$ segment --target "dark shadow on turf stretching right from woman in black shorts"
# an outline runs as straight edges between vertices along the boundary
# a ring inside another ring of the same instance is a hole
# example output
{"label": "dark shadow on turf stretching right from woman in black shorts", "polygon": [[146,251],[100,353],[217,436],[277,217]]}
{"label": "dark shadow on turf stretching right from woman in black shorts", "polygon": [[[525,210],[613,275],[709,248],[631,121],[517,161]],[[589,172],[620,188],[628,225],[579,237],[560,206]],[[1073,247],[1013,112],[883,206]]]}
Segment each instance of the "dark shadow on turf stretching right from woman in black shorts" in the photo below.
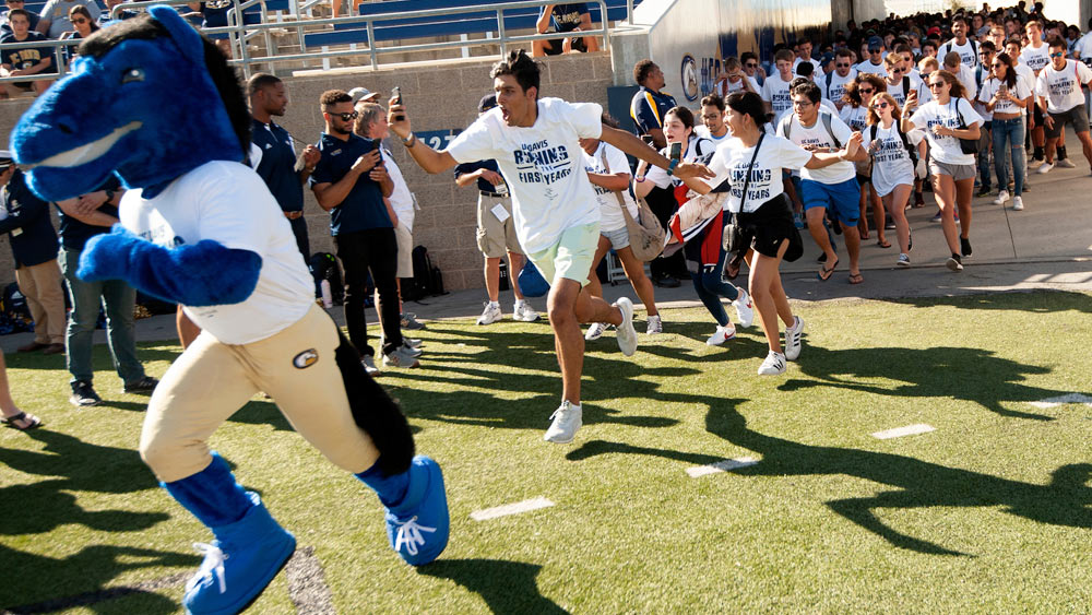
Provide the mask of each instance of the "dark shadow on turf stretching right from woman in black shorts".
{"label": "dark shadow on turf stretching right from woman in black shorts", "polygon": [[[829,351],[805,343],[797,362],[809,379],[790,379],[779,388],[796,391],[833,387],[905,398],[951,398],[971,401],[1000,416],[1054,421],[1053,416],[1005,407],[1005,403],[1035,402],[1069,391],[1054,391],[1024,382],[1049,369],[996,356],[990,351],[938,346],[933,348],[847,348]],[[862,380],[903,382],[892,387]]]}

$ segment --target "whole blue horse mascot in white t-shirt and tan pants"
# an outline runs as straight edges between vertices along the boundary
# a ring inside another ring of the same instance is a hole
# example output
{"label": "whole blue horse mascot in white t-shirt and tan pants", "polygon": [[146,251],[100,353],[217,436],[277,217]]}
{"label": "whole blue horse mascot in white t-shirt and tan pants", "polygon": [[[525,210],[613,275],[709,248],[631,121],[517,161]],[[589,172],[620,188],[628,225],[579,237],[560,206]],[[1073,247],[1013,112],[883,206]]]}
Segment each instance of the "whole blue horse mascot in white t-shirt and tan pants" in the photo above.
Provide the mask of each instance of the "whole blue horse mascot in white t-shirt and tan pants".
{"label": "whole blue horse mascot in white t-shirt and tan pants", "polygon": [[123,280],[183,306],[202,328],[152,394],[140,440],[167,493],[215,536],[197,545],[205,557],[186,587],[187,611],[241,611],[296,548],[207,446],[260,391],[375,489],[406,563],[436,559],[450,523],[440,468],[414,456],[405,417],[314,304],[288,222],[241,164],[250,116],[235,71],[168,7],[96,33],[79,52],[11,145],[49,201],[117,175],[128,190],[121,224],[87,243],[78,275]]}

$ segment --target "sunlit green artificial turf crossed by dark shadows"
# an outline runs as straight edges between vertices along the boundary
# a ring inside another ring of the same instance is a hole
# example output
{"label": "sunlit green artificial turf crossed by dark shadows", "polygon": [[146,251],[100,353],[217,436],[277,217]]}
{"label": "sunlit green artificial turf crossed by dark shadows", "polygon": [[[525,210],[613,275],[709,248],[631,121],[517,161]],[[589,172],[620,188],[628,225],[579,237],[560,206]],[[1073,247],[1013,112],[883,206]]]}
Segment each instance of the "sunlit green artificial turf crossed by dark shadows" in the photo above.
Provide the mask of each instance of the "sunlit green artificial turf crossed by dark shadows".
{"label": "sunlit green artificial turf crossed by dark shadows", "polygon": [[[542,440],[560,395],[548,324],[430,322],[423,367],[380,379],[447,478],[451,542],[420,569],[387,545],[376,497],[271,402],[212,443],[313,547],[341,613],[1081,612],[1092,407],[1031,402],[1092,394],[1090,307],[1077,293],[802,304],[804,352],[782,377],[756,375],[757,326],[709,347],[703,309],[664,310],[665,334],[631,358],[613,332],[587,344],[567,446]],[[120,394],[95,352],[108,405],[79,411],[61,358],[8,356],[16,401],[48,425],[0,431],[0,608],[175,612],[180,584],[138,583],[192,570],[190,543],[211,537],[140,461],[145,398]],[[141,357],[159,376],[178,352]],[[870,436],[919,423],[936,430]],[[686,472],[745,457],[759,462]],[[555,506],[470,518],[535,497]],[[252,611],[294,608],[282,573]]]}

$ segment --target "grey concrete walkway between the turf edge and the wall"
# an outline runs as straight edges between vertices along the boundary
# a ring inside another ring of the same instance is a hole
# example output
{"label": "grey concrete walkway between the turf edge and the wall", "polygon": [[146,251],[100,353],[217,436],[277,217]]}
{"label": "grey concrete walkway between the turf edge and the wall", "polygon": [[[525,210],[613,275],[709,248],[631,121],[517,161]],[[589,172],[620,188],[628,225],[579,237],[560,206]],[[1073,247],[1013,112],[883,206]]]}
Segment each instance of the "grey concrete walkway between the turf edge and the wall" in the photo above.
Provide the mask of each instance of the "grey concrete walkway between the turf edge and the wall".
{"label": "grey concrete walkway between the turf edge and the wall", "polygon": [[[1076,135],[1070,142],[1078,144]],[[948,249],[939,223],[929,218],[936,213],[933,193],[926,192],[926,206],[906,212],[914,237],[911,252],[913,267],[897,268],[899,257],[894,230],[887,232],[891,248],[876,245],[876,230],[871,239],[862,243],[860,270],[863,284],[851,285],[848,258],[844,241],[840,244],[841,261],[828,282],[819,282],[816,272],[819,251],[806,230],[803,232],[805,252],[794,263],[782,265],[782,277],[788,296],[796,300],[827,299],[886,299],[994,293],[1005,291],[1065,289],[1092,291],[1092,175],[1079,146],[1070,146],[1075,169],[1055,168],[1049,174],[1030,172],[1031,191],[1024,193],[1024,211],[1014,212],[1011,201],[1004,206],[990,204],[994,197],[974,200],[971,244],[974,257],[964,261],[961,273],[949,272],[943,267]],[[746,287],[746,268],[736,284]],[[626,295],[637,301],[628,283],[605,285],[608,300]],[[420,303],[411,301],[406,311],[416,312],[425,321],[444,318],[475,318],[482,312],[485,291],[459,291],[431,297]],[[656,303],[661,307],[700,306],[689,283],[679,288],[656,288]],[[511,315],[512,295],[501,294],[501,306]],[[545,299],[532,304],[545,312]],[[341,308],[330,310],[344,324]],[[375,311],[368,310],[369,322]],[[665,323],[669,329],[669,324]],[[373,329],[378,334],[378,329]],[[15,348],[31,341],[31,333],[0,338],[0,348],[14,353]],[[136,322],[139,341],[176,340],[174,316],[158,316]],[[96,332],[96,342],[104,343],[103,331]],[[62,364],[58,357],[59,365]]]}

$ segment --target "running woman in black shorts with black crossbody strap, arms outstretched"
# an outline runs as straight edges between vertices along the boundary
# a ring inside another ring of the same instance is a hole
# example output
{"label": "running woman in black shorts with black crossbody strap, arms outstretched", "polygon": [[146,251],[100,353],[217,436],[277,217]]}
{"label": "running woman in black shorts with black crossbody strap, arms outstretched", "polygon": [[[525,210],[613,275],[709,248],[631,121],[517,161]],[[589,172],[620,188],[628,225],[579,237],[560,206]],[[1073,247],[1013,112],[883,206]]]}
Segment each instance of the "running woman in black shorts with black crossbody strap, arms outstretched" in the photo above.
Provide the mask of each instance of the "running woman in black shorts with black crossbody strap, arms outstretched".
{"label": "running woman in black shorts with black crossbody strap, arms outstretched", "polygon": [[[799,258],[804,246],[784,198],[782,170],[817,169],[856,157],[860,152],[860,134],[853,134],[838,152],[811,153],[787,139],[763,131],[765,109],[755,94],[736,92],[725,104],[733,138],[716,147],[709,163],[715,177],[684,179],[702,197],[691,199],[679,210],[679,222],[673,227],[670,239],[681,240],[686,229],[707,224],[722,208],[732,214],[732,222],[740,228],[740,251],[747,252],[750,267],[750,295],[770,346],[758,372],[784,374],[785,362],[800,355],[804,321],[793,315],[781,285],[779,267],[783,258],[790,261]],[[713,192],[710,198],[714,188],[723,182],[727,182],[727,191]],[[676,228],[684,230],[677,233]],[[784,352],[779,318],[786,326]]]}

